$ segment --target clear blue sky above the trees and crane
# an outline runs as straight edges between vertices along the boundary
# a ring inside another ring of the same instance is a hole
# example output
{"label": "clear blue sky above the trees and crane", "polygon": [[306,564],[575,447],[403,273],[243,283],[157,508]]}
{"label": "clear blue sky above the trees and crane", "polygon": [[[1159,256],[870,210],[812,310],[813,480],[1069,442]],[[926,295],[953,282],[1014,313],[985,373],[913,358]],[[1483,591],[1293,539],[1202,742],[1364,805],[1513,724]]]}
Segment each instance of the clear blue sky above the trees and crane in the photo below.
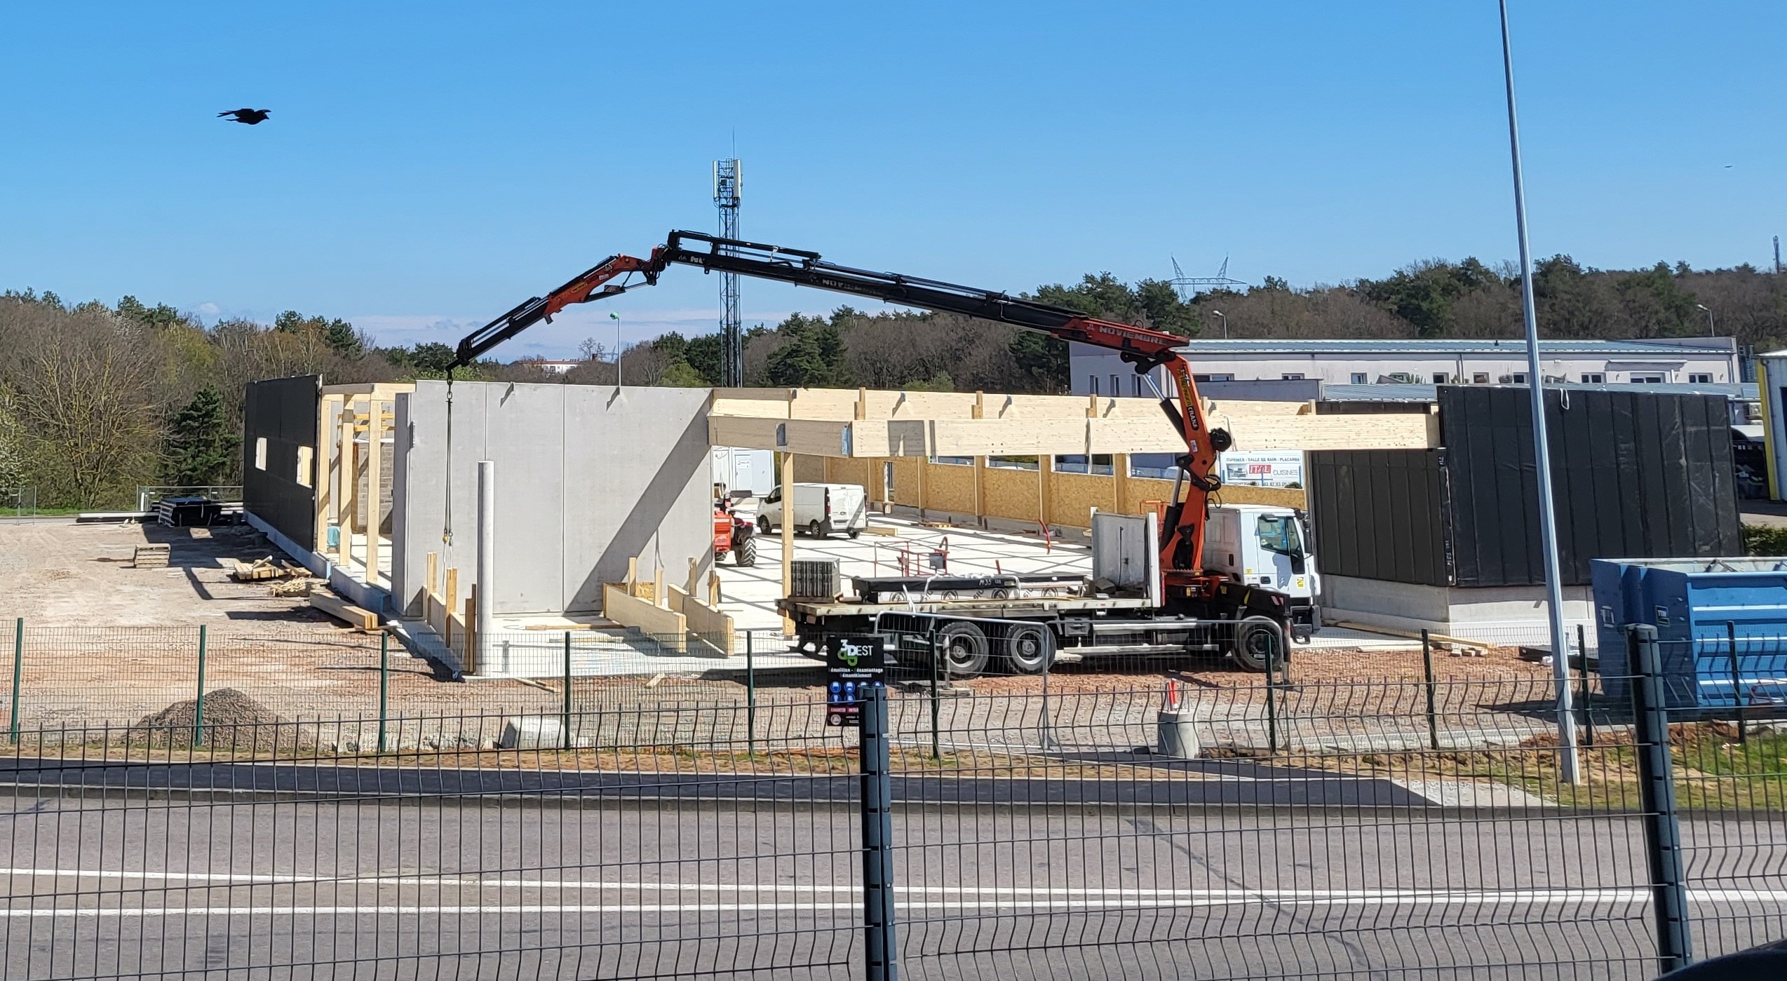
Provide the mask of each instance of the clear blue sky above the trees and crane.
{"label": "clear blue sky above the trees and crane", "polygon": [[[1769,261],[1787,5],[1515,0],[1514,29],[1537,254]],[[239,105],[273,118],[214,118]],[[14,4],[0,288],[452,343],[711,231],[734,139],[747,238],[976,286],[1515,254],[1492,0]],[[717,288],[613,309],[629,341],[704,332]],[[838,302],[743,288],[747,323]]]}

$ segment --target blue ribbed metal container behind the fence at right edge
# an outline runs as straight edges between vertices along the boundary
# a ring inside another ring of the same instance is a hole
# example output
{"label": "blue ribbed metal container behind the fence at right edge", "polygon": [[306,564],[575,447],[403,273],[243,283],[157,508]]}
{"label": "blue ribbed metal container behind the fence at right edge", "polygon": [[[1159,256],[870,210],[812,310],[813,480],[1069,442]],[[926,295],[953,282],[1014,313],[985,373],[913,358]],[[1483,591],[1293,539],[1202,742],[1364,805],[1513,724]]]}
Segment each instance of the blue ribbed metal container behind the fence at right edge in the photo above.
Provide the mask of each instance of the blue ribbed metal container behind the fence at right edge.
{"label": "blue ribbed metal container behind the fence at right edge", "polygon": [[1626,625],[1649,624],[1669,708],[1787,706],[1787,558],[1594,559],[1590,574],[1601,686],[1617,704],[1632,697]]}

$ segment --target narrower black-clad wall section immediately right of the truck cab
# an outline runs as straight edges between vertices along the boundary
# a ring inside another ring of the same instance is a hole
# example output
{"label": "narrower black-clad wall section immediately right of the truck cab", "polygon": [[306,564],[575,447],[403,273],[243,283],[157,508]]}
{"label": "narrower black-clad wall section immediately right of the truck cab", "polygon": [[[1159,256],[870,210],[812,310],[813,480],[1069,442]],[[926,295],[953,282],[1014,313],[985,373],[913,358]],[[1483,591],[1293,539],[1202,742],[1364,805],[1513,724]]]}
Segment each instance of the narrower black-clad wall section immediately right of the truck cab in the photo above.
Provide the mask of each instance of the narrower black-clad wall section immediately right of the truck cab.
{"label": "narrower black-clad wall section immediately right of the truck cab", "polygon": [[1446,586],[1444,450],[1310,454],[1315,563],[1333,575]]}

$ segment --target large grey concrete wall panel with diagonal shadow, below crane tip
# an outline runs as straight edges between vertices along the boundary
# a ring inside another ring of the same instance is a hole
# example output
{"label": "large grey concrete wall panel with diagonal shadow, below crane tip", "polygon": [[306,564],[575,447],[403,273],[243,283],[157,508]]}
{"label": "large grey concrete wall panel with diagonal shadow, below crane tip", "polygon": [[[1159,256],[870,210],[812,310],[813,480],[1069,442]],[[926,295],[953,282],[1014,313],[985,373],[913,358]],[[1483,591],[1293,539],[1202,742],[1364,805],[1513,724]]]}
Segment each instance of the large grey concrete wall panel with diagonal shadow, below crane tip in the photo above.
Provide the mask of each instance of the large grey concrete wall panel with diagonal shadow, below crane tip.
{"label": "large grey concrete wall panel with diagonal shadow, below crane tip", "polygon": [[[427,554],[477,581],[477,461],[497,465],[495,613],[590,613],[602,583],[713,565],[708,390],[447,382],[397,397],[393,606],[422,613]],[[452,541],[443,541],[449,500]]]}

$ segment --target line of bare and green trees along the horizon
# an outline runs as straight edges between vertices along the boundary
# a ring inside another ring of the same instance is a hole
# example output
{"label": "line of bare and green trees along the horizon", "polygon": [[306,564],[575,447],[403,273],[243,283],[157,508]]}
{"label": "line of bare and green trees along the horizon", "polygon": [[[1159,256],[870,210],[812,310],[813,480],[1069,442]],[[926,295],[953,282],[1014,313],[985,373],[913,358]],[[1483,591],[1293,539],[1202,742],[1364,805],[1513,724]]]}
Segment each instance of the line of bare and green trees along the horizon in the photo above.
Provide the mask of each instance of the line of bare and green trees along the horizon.
{"label": "line of bare and green trees along the horizon", "polygon": [[[1517,338],[1519,275],[1478,259],[1414,263],[1383,279],[1294,289],[1260,286],[1181,297],[1170,282],[1088,273],[1026,297],[1187,338]],[[1548,338],[1730,334],[1758,350],[1787,341],[1787,277],[1753,266],[1658,263],[1596,270],[1553,256],[1533,270]],[[1712,322],[1708,323],[1708,314]],[[713,386],[720,338],[663,334],[624,352],[595,340],[570,372],[481,361],[456,377],[566,384]],[[66,304],[0,295],[0,495],[34,486],[43,506],[100,507],[138,484],[234,484],[248,381],[322,373],[331,384],[445,377],[438,341],[377,347],[340,318],[281,313],[273,323],[204,325],[136,297]],[[1035,391],[1069,388],[1067,345],[942,313],[868,314],[840,306],[745,332],[751,386]],[[4,500],[4,497],[0,497]]]}

